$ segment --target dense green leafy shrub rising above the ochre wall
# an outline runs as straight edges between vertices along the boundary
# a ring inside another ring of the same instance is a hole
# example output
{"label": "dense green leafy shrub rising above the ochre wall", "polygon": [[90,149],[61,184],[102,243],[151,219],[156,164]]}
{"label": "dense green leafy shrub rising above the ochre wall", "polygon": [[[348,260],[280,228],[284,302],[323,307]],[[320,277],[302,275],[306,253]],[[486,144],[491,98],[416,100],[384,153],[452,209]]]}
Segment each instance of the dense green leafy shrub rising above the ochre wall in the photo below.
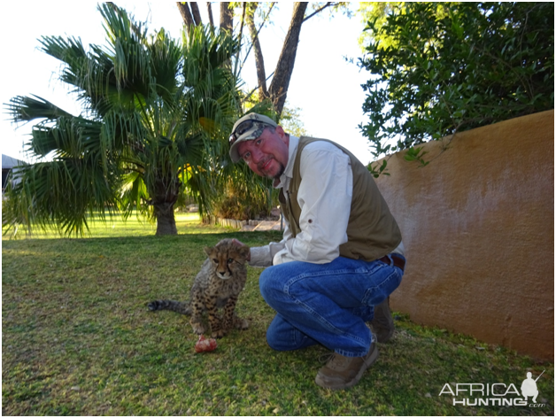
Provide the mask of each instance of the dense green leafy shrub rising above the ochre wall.
{"label": "dense green leafy shrub rising above the ochre wall", "polygon": [[554,107],[553,3],[395,4],[366,30],[377,157]]}

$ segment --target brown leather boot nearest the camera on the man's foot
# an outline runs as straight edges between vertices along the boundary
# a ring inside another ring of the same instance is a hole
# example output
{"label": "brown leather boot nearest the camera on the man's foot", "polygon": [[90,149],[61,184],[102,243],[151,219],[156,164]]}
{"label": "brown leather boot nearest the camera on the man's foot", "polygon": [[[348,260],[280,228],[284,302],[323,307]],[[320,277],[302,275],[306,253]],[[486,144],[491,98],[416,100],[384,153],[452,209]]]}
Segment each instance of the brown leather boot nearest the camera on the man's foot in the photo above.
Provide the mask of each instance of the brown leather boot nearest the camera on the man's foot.
{"label": "brown leather boot nearest the camera on the man's foot", "polygon": [[327,389],[347,389],[359,382],[365,370],[378,359],[378,348],[372,343],[363,357],[344,357],[332,353],[324,368],[320,368],[314,382]]}

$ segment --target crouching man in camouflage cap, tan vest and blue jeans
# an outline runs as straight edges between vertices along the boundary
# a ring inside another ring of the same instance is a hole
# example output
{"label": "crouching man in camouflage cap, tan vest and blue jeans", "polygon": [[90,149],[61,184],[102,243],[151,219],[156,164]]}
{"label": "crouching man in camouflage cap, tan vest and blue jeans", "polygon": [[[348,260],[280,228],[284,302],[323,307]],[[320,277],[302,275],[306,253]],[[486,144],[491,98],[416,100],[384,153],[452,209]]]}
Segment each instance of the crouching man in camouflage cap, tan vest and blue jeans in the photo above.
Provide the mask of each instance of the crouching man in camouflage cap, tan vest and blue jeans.
{"label": "crouching man in camouflage cap, tan vest and blue jeans", "polygon": [[394,331],[388,298],[405,268],[398,224],[367,167],[336,143],[286,134],[256,113],[237,120],[229,143],[234,162],[280,189],[283,239],[248,258],[268,267],[259,286],[276,316],[266,340],[281,351],[328,347],[315,382],[351,387]]}

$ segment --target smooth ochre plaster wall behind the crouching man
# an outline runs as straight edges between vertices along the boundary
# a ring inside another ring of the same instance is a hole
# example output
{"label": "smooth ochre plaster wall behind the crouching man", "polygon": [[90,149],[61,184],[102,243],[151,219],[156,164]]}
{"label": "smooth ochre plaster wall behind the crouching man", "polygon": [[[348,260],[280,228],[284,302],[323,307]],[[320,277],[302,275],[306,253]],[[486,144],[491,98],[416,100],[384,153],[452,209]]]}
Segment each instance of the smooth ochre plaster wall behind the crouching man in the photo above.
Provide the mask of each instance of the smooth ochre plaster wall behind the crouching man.
{"label": "smooth ochre plaster wall behind the crouching man", "polygon": [[423,146],[428,166],[398,152],[377,179],[407,257],[392,309],[552,360],[554,112]]}

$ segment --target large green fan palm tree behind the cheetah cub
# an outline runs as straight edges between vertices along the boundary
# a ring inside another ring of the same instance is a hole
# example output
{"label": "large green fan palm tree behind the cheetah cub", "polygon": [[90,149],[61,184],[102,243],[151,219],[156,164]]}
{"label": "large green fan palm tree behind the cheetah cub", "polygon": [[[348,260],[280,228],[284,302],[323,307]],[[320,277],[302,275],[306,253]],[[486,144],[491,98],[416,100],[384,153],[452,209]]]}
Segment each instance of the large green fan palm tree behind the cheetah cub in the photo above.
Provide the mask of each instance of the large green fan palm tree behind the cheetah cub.
{"label": "large green fan palm tree behind the cheetah cub", "polygon": [[4,225],[88,229],[88,214],[151,213],[157,235],[176,234],[174,204],[185,189],[201,210],[221,173],[240,106],[229,57],[236,42],[195,27],[183,44],[146,28],[113,4],[98,7],[107,46],[43,36],[84,112],[41,97],[14,97],[13,120],[35,121],[29,151],[50,161],[20,167],[6,193]]}

